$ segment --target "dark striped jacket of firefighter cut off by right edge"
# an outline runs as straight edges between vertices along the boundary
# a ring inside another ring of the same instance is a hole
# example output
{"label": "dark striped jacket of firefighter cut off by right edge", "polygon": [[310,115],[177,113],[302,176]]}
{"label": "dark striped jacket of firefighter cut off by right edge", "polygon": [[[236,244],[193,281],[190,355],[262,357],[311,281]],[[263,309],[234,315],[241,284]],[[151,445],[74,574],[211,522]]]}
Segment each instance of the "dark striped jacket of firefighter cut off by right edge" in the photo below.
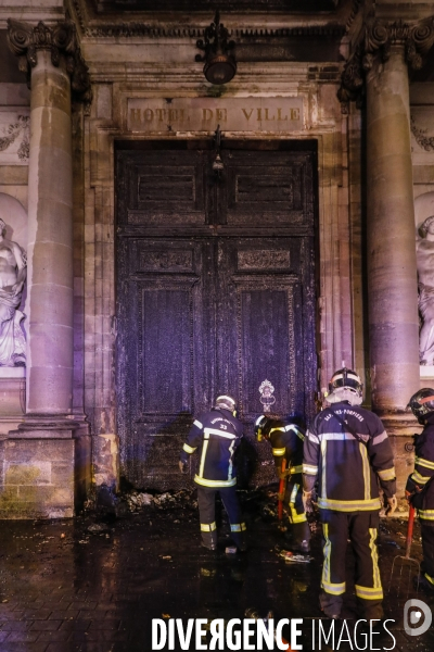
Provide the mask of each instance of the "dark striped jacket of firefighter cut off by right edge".
{"label": "dark striped jacket of firefighter cut off by right edge", "polygon": [[426,421],[416,437],[414,471],[408,476],[406,491],[413,493],[411,503],[418,509],[421,524],[434,526],[434,414]]}

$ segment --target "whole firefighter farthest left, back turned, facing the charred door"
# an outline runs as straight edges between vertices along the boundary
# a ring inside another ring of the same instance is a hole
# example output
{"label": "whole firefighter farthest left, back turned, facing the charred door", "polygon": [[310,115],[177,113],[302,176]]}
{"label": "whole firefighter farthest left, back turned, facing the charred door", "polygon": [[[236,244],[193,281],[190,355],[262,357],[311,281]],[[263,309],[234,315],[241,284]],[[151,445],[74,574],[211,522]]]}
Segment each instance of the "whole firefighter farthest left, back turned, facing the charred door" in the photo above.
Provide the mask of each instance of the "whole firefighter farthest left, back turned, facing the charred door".
{"label": "whole firefighter farthest left, back turned, facing the charred door", "polygon": [[237,497],[234,464],[234,454],[243,436],[243,424],[235,415],[234,399],[228,396],[217,397],[213,410],[194,421],[179,460],[180,471],[188,473],[188,460],[199,450],[199,468],[194,481],[197,485],[202,546],[208,550],[217,550],[217,492],[228,513],[232,541],[238,550],[246,550],[245,523],[242,521]]}

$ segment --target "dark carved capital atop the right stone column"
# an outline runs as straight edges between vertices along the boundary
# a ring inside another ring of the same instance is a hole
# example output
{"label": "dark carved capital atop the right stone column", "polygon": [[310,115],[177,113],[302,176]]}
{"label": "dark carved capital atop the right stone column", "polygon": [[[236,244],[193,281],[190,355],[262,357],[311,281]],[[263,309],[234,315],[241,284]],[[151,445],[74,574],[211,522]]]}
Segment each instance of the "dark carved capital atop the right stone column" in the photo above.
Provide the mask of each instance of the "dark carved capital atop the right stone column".
{"label": "dark carved capital atop the right stone column", "polygon": [[341,88],[337,91],[342,112],[347,113],[348,103],[353,100],[358,105],[361,104],[365,75],[372,68],[376,58],[386,62],[392,48],[401,47],[407,64],[413,70],[419,70],[433,45],[434,16],[417,23],[388,23],[374,17],[369,18],[342,73]]}

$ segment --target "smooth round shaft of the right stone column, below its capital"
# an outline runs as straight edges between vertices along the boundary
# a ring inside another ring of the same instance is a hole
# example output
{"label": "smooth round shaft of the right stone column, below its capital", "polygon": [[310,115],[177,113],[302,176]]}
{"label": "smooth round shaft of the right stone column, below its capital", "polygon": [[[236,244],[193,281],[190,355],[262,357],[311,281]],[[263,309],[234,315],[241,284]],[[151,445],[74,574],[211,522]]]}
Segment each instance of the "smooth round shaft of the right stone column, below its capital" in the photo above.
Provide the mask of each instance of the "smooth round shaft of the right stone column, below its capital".
{"label": "smooth round shaft of the right stone column, below its capital", "polygon": [[410,104],[403,45],[367,74],[367,243],[372,404],[404,411],[419,388]]}

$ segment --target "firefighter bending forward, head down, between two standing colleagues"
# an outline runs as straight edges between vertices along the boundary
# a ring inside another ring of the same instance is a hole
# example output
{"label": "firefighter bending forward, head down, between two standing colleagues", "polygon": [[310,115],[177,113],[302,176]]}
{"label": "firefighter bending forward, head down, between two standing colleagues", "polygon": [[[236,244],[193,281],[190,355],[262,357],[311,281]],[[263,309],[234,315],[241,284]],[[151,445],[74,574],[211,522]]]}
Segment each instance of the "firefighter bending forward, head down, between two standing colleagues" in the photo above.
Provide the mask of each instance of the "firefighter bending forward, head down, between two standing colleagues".
{"label": "firefighter bending forward, head down, between two standing colleagues", "polygon": [[264,437],[270,442],[278,476],[286,480],[284,496],[279,498],[284,500],[289,507],[290,548],[293,552],[306,554],[310,552],[310,529],[303,505],[302,463],[305,429],[277,415],[263,414],[255,422],[255,436],[258,441]]}

